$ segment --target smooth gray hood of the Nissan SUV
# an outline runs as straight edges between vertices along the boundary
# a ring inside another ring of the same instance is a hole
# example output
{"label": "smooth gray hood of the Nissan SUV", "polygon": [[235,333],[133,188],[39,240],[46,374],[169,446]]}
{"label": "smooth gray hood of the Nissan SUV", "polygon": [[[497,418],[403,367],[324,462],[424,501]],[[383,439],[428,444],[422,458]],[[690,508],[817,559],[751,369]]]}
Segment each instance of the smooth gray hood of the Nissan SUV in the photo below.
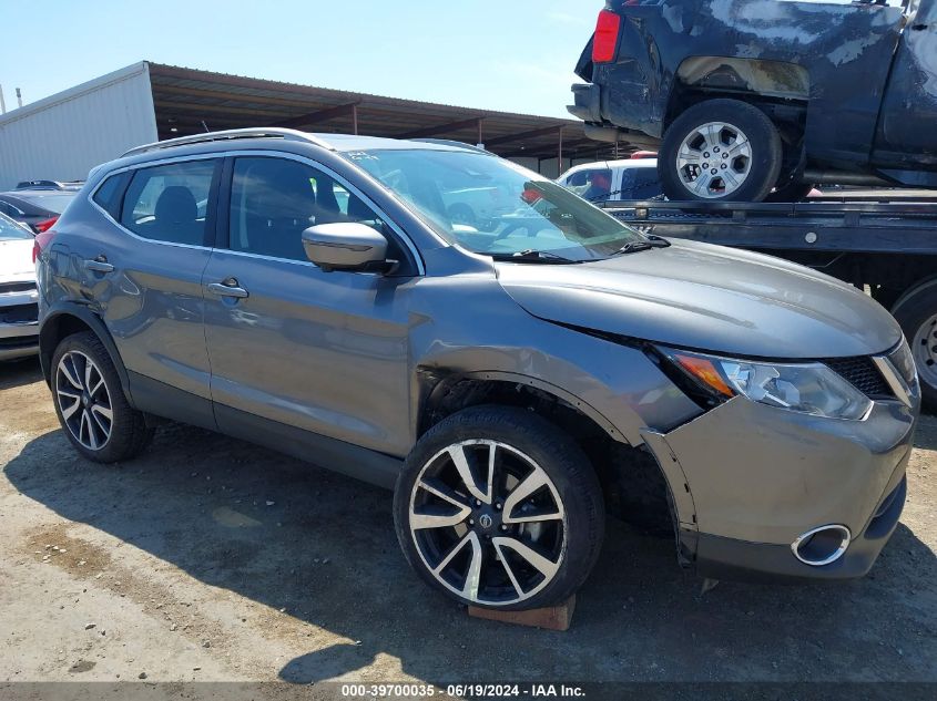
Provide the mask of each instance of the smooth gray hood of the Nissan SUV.
{"label": "smooth gray hood of the Nissan SUV", "polygon": [[674,240],[669,248],[551,266],[498,262],[505,290],[549,321],[750,358],[892,349],[902,331],[854,287],[778,258]]}

